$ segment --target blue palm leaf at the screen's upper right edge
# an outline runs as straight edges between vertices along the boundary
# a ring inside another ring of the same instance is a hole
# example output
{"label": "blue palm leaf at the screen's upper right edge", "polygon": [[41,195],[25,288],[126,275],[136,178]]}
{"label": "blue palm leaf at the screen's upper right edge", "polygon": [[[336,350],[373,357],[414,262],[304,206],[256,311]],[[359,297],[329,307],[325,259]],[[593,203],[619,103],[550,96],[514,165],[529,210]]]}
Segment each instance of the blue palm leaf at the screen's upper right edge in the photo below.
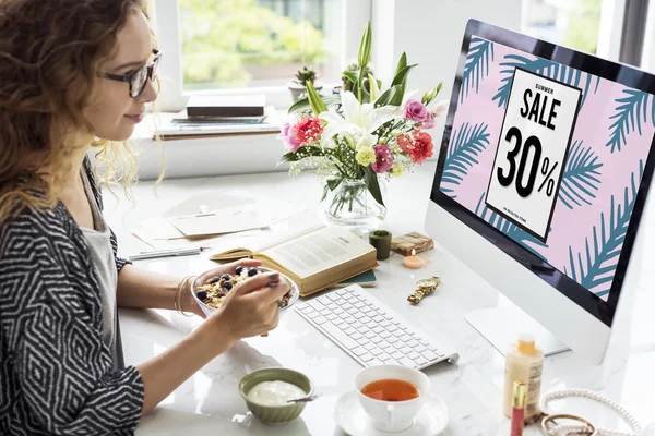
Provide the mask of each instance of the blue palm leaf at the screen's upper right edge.
{"label": "blue palm leaf at the screen's upper right edge", "polygon": [[[635,130],[641,135],[642,113],[644,122],[647,121],[648,94],[636,89],[623,89],[623,96],[615,100],[618,106],[615,113],[609,117],[615,120],[609,126],[609,141],[606,146],[620,152],[621,145],[627,145],[626,135]],[[655,125],[655,97],[653,97],[653,125]],[[635,129],[636,128],[636,129]]]}

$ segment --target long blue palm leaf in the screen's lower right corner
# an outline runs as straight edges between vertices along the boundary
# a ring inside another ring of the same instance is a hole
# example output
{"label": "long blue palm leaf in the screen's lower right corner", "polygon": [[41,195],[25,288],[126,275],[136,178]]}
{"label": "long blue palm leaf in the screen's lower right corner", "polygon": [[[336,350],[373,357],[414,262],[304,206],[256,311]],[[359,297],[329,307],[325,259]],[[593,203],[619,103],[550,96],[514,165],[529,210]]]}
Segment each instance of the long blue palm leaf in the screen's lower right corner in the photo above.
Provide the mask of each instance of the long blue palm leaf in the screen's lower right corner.
{"label": "long blue palm leaf in the screen's lower right corner", "polygon": [[605,214],[600,214],[600,235],[594,226],[593,252],[590,239],[585,237],[586,265],[582,262],[583,254],[577,253],[577,256],[574,256],[572,247],[569,246],[570,270],[564,266],[564,272],[584,288],[594,290],[593,292],[598,296],[609,293],[643,172],[644,164],[643,160],[640,160],[639,177],[635,178],[633,172],[630,177],[630,186],[626,186],[623,190],[623,207],[620,204],[615,206],[615,197],[611,196],[609,226],[605,226]]}

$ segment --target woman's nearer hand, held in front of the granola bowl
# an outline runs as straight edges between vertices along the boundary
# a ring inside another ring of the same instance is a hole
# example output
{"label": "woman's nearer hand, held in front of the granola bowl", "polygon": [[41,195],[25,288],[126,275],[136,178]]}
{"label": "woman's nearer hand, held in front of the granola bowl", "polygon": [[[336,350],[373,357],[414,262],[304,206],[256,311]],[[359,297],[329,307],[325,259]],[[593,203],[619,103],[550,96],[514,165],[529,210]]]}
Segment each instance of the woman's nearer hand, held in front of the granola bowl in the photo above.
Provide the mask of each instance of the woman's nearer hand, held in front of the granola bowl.
{"label": "woman's nearer hand, held in front of the granola bowl", "polygon": [[278,301],[288,291],[289,286],[279,274],[259,274],[237,283],[203,324],[211,325],[211,334],[225,336],[230,344],[266,334],[277,327]]}

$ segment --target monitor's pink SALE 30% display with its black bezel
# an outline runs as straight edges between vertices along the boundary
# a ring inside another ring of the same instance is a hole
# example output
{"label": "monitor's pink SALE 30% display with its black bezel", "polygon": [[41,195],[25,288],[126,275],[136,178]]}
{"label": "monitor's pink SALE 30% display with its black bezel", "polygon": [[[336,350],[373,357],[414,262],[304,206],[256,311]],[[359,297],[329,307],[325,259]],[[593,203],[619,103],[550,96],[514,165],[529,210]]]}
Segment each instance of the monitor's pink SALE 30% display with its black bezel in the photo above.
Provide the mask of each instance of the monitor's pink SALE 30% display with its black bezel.
{"label": "monitor's pink SALE 30% display with its black bezel", "polygon": [[467,27],[431,199],[611,326],[653,172],[655,80],[497,29]]}

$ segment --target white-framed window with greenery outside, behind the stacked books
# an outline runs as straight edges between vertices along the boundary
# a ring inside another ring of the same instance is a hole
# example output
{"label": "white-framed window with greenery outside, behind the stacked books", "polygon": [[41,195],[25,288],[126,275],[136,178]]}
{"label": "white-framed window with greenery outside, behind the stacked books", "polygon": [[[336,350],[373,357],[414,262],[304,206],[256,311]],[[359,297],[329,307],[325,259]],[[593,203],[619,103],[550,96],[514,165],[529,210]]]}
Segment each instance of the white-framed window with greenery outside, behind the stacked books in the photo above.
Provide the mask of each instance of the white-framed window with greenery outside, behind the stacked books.
{"label": "white-framed window with greenery outside, behind the stacked books", "polygon": [[358,40],[370,19],[370,2],[361,0],[356,7],[347,0],[155,3],[164,110],[181,109],[183,96],[199,93],[265,94],[269,104],[288,107],[286,84],[302,66],[317,70],[321,82],[341,81],[356,56],[343,41]]}

